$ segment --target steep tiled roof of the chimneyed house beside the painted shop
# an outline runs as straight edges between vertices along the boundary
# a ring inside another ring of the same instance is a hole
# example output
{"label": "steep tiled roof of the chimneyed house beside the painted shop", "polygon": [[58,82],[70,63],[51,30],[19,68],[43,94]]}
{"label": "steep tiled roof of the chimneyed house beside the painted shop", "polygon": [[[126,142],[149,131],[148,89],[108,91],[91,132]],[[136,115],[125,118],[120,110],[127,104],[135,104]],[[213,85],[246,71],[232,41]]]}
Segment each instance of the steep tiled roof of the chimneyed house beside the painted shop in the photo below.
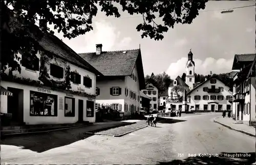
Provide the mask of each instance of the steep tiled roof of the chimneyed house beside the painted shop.
{"label": "steep tiled roof of the chimneyed house beside the painted shop", "polygon": [[79,53],[103,76],[130,76],[137,66],[140,90],[145,89],[145,77],[140,49]]}

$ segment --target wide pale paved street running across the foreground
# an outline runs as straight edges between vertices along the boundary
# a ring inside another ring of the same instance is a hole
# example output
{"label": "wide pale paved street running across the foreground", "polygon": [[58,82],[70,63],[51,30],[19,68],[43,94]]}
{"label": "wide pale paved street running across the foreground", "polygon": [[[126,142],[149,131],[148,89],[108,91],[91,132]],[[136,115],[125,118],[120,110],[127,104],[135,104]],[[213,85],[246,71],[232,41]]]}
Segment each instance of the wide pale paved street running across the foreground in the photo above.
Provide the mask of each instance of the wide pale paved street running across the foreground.
{"label": "wide pale paved street running across the foreground", "polygon": [[[172,123],[163,121],[158,123],[157,127],[146,127],[122,137],[106,135],[77,137],[76,134],[70,132],[68,134],[67,131],[54,132],[54,135],[48,136],[15,137],[2,142],[1,164],[182,164],[182,162],[184,164],[204,164],[204,162],[247,164],[248,161],[253,162],[255,137],[214,123],[214,118],[220,115],[214,113],[188,115],[175,118]],[[72,139],[75,136],[76,140]],[[60,137],[69,143],[61,143]],[[40,147],[45,150],[36,149]],[[199,153],[219,154],[219,157],[200,157]],[[228,155],[221,156],[222,153],[248,153],[251,157],[230,158],[227,157]],[[196,157],[191,157],[189,154],[196,154]]]}

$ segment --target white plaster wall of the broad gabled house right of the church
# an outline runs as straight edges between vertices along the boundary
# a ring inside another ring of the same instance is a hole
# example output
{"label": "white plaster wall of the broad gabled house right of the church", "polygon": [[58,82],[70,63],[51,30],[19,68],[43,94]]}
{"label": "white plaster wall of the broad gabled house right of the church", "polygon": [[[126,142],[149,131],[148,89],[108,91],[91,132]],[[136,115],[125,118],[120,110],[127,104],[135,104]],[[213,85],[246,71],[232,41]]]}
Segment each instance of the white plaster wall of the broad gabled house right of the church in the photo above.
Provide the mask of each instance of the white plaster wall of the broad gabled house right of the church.
{"label": "white plaster wall of the broad gabled house right of the church", "polygon": [[[209,89],[211,88],[211,85],[215,85],[216,89],[218,89],[219,87],[223,87],[224,90],[223,92],[220,93],[208,93],[208,92],[204,92],[203,88],[204,87],[208,87]],[[194,97],[195,95],[200,95],[201,96],[201,100],[195,100]],[[209,99],[210,99],[210,95],[216,95],[216,100],[203,100],[203,96],[204,95],[208,95]],[[218,100],[218,95],[223,95],[224,99],[223,100]],[[191,106],[196,106],[196,104],[199,104],[199,110],[203,110],[203,105],[204,104],[208,104],[208,102],[218,102],[219,104],[222,104],[222,109],[226,109],[227,104],[231,105],[231,103],[228,102],[228,100],[226,100],[226,96],[227,95],[231,95],[232,93],[229,90],[229,87],[225,86],[221,81],[217,80],[216,84],[210,84],[210,81],[205,82],[205,84],[203,84],[201,87],[198,87],[195,91],[193,91],[192,93],[189,94],[189,96],[191,96],[191,102],[189,103],[189,109]],[[210,110],[210,105],[208,105],[208,110]],[[218,105],[215,106],[215,109],[218,109]],[[193,110],[193,109],[191,109]]]}

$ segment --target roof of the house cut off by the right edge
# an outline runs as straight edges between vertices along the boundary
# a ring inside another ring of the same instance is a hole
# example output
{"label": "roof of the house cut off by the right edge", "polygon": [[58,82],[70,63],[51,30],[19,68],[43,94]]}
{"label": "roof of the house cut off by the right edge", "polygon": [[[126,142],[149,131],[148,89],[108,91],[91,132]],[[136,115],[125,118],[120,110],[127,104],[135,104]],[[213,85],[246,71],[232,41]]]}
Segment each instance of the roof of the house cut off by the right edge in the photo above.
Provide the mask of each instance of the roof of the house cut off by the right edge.
{"label": "roof of the house cut off by the right edge", "polygon": [[255,58],[255,53],[235,54],[232,70],[240,70],[240,66],[239,66],[240,63],[253,62],[254,58]]}

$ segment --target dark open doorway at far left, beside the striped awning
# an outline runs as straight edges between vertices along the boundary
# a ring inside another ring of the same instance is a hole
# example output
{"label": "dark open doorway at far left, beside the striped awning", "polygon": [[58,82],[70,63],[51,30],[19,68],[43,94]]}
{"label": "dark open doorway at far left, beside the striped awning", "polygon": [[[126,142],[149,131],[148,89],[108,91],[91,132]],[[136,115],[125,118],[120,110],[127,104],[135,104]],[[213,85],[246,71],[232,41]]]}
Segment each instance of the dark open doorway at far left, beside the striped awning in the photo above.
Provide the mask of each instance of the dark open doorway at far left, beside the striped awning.
{"label": "dark open doorway at far left, beside the striped awning", "polygon": [[11,124],[24,124],[24,92],[22,89],[7,88],[13,96],[7,97],[7,113],[12,114]]}

